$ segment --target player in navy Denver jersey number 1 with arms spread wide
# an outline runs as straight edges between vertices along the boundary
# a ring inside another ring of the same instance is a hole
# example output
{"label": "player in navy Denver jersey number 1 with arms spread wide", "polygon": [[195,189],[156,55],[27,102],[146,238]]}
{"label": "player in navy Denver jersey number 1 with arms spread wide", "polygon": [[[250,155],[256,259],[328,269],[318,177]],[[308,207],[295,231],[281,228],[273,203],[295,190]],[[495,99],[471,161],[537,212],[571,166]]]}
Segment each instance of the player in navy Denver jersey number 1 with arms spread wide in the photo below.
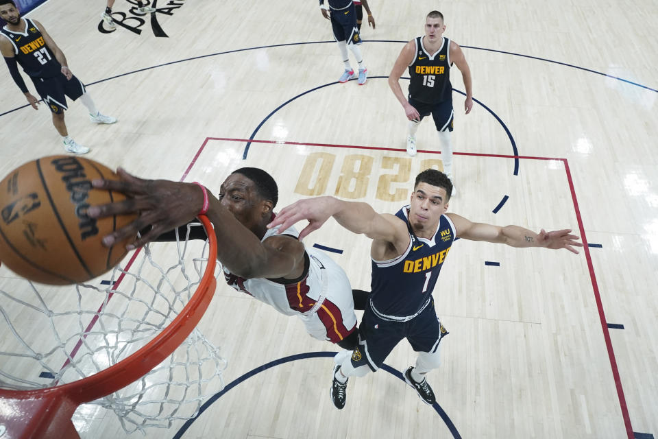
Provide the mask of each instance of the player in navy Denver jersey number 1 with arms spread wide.
{"label": "player in navy Denver jersey number 1 with arms spread wide", "polygon": [[425,375],[439,367],[439,342],[448,332],[437,318],[432,291],[454,239],[513,247],[566,248],[574,253],[578,253],[574,247],[583,246],[571,230],[547,233],[542,229],[534,233],[520,226],[475,223],[446,213],[451,192],[452,183],[446,174],[427,169],[416,177],[411,204],[395,215],[376,213],[363,202],[319,197],[285,207],[268,225],[284,230],[308,219],[310,224],[300,232],[302,239],[333,216],[341,226],[373,240],[372,292],[359,327],[359,346],[334,357],[330,395],[339,409],[345,405],[348,377],[363,377],[378,370],[405,337],[418,357],[415,366],[404,372],[404,379],[425,403],[435,403]]}

